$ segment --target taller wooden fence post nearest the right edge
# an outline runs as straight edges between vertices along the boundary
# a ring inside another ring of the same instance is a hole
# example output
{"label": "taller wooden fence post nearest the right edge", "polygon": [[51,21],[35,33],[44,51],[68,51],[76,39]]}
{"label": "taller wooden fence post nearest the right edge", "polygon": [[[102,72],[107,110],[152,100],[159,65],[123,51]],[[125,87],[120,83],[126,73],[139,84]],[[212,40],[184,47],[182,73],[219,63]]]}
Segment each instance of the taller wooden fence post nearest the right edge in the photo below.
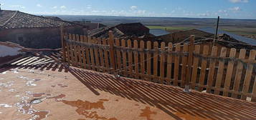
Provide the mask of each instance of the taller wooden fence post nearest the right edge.
{"label": "taller wooden fence post nearest the right edge", "polygon": [[186,69],[186,82],[185,82],[185,92],[189,92],[189,81],[191,79],[191,66],[193,62],[193,51],[194,51],[194,35],[190,36],[190,46],[189,46],[189,57],[188,57],[188,67]]}

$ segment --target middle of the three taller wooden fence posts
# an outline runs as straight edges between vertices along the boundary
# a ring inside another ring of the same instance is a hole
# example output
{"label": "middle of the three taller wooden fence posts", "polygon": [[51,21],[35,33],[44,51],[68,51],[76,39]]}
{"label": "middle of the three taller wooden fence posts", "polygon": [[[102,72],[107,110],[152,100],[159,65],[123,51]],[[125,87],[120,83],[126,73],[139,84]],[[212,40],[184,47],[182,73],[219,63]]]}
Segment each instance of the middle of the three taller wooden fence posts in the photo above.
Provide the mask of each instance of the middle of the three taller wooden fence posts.
{"label": "middle of the three taller wooden fence posts", "polygon": [[[114,36],[113,31],[108,32],[109,35],[109,41],[108,44],[110,45],[109,53],[110,53],[110,66],[115,71],[115,48],[114,48]],[[115,73],[114,73],[115,74]]]}

